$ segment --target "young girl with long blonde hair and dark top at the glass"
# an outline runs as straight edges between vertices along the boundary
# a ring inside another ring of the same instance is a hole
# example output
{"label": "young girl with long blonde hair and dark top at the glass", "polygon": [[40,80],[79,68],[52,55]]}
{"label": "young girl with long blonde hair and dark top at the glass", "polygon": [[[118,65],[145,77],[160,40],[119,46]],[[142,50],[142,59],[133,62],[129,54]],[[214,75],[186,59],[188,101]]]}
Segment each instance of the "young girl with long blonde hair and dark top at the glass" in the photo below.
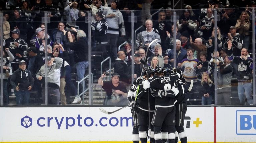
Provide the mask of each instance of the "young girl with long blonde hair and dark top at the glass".
{"label": "young girl with long blonde hair and dark top at the glass", "polygon": [[202,105],[211,105],[214,96],[214,83],[207,72],[203,72],[199,94],[202,96]]}

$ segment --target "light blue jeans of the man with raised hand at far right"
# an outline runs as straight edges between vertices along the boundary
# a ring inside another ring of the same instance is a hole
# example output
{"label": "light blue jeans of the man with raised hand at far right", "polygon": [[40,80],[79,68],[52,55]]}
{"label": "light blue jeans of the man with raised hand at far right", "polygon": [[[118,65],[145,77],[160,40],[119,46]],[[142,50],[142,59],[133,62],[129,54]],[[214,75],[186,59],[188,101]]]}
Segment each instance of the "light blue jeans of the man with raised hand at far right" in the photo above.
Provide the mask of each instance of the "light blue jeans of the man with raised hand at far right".
{"label": "light blue jeans of the man with raised hand at far right", "polygon": [[[238,92],[238,98],[239,98],[239,101],[240,101],[241,105],[253,104],[251,91],[252,91],[252,83],[250,83],[250,82],[238,82],[237,92]],[[245,102],[244,93],[245,93],[247,102]]]}

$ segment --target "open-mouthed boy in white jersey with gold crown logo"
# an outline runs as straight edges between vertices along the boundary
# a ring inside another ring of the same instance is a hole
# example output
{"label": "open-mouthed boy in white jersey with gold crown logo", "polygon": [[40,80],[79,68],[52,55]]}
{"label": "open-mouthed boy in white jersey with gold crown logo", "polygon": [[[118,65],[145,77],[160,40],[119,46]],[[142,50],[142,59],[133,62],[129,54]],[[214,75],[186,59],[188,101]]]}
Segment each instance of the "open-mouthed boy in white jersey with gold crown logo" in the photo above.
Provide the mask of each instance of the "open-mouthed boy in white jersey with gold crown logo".
{"label": "open-mouthed boy in white jersey with gold crown logo", "polygon": [[190,83],[191,80],[193,80],[194,83],[197,81],[196,66],[198,59],[193,55],[193,49],[187,49],[187,58],[183,59],[177,66],[177,68],[183,71],[183,77],[187,83]]}

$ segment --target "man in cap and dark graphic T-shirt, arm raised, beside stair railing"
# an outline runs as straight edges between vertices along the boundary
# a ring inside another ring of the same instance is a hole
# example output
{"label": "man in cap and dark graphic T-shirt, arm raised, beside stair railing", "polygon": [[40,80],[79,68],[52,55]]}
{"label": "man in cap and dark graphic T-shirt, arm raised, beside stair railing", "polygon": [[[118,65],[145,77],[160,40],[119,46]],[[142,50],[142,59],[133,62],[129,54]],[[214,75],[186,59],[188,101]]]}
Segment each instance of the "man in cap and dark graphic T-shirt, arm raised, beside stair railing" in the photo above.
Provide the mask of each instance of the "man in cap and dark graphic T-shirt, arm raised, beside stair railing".
{"label": "man in cap and dark graphic T-shirt, arm raised, beside stair railing", "polygon": [[120,75],[114,73],[111,76],[111,81],[103,81],[106,77],[106,73],[103,73],[98,79],[98,84],[106,92],[106,98],[103,105],[127,105],[127,90],[125,86],[119,82]]}

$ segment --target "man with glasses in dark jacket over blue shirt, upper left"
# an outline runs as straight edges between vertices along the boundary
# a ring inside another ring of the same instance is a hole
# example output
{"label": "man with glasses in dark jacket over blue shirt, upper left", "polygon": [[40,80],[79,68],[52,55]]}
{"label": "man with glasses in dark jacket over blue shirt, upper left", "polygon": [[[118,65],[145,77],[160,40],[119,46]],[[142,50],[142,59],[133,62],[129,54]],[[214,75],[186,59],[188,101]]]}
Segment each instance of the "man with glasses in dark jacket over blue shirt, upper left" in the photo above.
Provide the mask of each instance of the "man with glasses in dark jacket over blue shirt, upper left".
{"label": "man with glasses in dark jacket over blue shirt, upper left", "polygon": [[52,30],[50,37],[53,42],[58,42],[62,44],[66,42],[64,27],[65,24],[63,22],[59,22],[58,29]]}

